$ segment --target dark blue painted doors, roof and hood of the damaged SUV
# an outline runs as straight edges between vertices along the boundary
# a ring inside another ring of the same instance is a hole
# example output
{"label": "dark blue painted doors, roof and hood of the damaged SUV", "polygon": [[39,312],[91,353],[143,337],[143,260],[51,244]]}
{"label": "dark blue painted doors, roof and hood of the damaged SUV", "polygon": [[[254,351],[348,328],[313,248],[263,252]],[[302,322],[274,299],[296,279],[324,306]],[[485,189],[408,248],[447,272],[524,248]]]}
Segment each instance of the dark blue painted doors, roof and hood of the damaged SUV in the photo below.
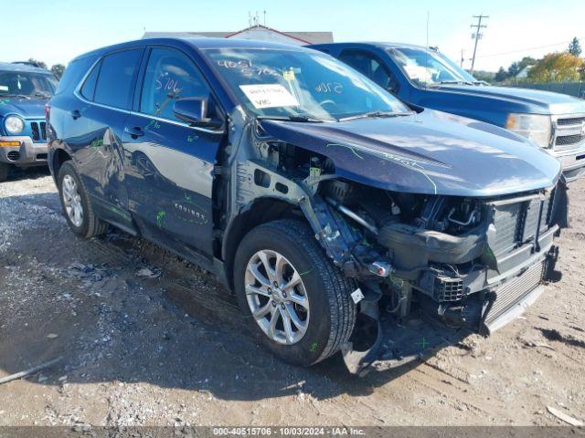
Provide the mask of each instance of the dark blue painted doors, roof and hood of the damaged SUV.
{"label": "dark blue painted doors, roof and hood of the damaged SUV", "polygon": [[[104,47],[74,59],[71,64],[78,63],[83,75],[73,71],[66,90],[58,90],[50,101],[49,167],[53,176],[58,176],[54,166],[57,151],[66,151],[80,170],[101,218],[209,266],[213,258],[213,172],[218,152],[231,144],[230,133],[241,132],[242,126],[212,131],[140,114],[140,86],[134,87],[131,110],[90,102],[79,93],[85,72],[104,55],[132,48],[144,49],[146,54],[152,47],[172,47],[190,57],[226,115],[243,110],[199,49],[290,47],[213,38],[156,38]],[[134,85],[142,84],[146,59],[142,58]],[[549,187],[559,173],[558,162],[516,134],[431,111],[395,120],[344,122],[331,130],[329,124],[263,124],[282,140],[298,141],[298,146],[307,149],[313,141],[309,139],[318,139],[312,150],[331,156],[340,172],[356,182],[410,193],[518,193]],[[142,135],[133,135],[136,128]],[[362,149],[352,151],[354,144]],[[388,160],[388,154],[395,156]],[[503,156],[512,160],[502,160]],[[472,162],[465,166],[463,157]],[[487,172],[490,166],[493,169]]]}

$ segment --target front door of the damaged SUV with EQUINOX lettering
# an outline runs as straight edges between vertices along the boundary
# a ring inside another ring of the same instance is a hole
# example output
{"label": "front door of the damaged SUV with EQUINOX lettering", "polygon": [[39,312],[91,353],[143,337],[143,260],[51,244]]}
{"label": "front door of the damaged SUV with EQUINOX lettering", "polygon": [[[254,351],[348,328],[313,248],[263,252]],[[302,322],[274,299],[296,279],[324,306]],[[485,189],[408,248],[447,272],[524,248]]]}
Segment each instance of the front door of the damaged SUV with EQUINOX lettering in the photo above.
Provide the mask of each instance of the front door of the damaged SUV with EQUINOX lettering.
{"label": "front door of the damaged SUV with EQUINOX lettering", "polygon": [[147,52],[135,111],[122,137],[130,210],[145,235],[210,259],[213,171],[224,130],[191,127],[176,119],[173,105],[176,99],[204,97],[210,116],[221,116],[191,57],[174,47]]}

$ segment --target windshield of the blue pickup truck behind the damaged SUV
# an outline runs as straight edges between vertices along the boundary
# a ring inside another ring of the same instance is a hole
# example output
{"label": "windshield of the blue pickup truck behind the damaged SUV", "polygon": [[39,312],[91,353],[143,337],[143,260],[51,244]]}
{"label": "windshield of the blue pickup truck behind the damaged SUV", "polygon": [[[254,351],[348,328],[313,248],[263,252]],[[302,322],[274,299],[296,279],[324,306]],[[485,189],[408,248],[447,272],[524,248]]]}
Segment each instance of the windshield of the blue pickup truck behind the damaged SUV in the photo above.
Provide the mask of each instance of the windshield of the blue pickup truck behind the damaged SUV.
{"label": "windshield of the blue pickup truck behind the damaged SUV", "polygon": [[477,79],[458,67],[448,57],[434,50],[422,48],[391,48],[390,56],[418,86],[466,83],[473,85]]}

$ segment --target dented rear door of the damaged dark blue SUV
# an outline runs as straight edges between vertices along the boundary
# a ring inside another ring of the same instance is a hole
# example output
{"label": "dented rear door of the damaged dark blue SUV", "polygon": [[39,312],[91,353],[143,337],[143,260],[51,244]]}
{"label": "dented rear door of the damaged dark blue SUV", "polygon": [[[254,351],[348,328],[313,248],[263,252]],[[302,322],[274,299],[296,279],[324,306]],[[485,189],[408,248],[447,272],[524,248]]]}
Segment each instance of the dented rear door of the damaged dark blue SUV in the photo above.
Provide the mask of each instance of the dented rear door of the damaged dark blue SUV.
{"label": "dented rear door of the damaged dark blue SUV", "polygon": [[69,113],[69,147],[101,217],[132,228],[123,182],[122,131],[130,115],[133,89],[144,47],[101,57],[76,90],[79,108]]}

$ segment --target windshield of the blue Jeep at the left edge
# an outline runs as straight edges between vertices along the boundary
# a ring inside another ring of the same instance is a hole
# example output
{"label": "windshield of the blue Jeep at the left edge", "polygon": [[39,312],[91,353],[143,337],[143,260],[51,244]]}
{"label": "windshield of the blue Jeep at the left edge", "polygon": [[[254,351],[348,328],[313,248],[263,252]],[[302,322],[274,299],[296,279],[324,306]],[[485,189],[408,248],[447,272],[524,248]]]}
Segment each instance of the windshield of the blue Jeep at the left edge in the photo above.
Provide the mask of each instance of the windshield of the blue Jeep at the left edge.
{"label": "windshield of the blue Jeep at the left edge", "polygon": [[52,75],[0,70],[0,96],[49,97],[56,88],[57,79]]}

